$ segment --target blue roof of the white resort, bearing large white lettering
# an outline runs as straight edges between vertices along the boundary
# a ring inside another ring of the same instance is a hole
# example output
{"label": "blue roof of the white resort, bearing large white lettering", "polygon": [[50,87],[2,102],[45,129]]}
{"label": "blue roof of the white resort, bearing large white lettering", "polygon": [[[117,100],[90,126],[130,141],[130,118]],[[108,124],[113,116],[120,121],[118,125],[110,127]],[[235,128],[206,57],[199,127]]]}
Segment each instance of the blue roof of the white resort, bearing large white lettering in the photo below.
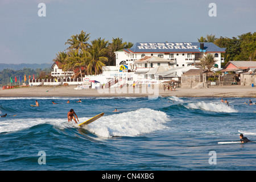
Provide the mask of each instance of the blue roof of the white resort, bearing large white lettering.
{"label": "blue roof of the white resort, bearing large white lettering", "polygon": [[226,48],[220,48],[212,42],[204,42],[204,49],[200,49],[200,42],[157,42],[135,43],[133,47],[123,49],[126,52],[225,52]]}

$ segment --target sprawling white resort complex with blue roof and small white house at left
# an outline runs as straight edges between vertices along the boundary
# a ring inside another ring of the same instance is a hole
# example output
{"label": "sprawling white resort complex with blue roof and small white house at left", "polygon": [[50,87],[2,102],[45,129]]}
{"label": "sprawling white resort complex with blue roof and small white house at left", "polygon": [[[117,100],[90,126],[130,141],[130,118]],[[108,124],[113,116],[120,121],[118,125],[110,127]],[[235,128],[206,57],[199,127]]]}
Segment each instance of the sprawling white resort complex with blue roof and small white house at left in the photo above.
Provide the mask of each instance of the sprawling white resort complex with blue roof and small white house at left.
{"label": "sprawling white resort complex with blue roof and small white house at left", "polygon": [[[199,59],[208,53],[217,60],[214,68],[221,68],[224,59],[220,48],[213,43],[180,42],[180,43],[135,43],[133,47],[115,52],[115,65],[102,68],[102,74],[88,75],[84,78],[71,78],[73,73],[63,72],[56,63],[52,65],[55,84],[82,84],[91,81],[97,86],[127,86],[136,84],[160,84],[168,80],[181,80],[181,75],[196,67]],[[41,80],[30,82],[33,85],[47,84]],[[93,86],[92,86],[93,88]],[[95,86],[94,86],[95,88]]]}

